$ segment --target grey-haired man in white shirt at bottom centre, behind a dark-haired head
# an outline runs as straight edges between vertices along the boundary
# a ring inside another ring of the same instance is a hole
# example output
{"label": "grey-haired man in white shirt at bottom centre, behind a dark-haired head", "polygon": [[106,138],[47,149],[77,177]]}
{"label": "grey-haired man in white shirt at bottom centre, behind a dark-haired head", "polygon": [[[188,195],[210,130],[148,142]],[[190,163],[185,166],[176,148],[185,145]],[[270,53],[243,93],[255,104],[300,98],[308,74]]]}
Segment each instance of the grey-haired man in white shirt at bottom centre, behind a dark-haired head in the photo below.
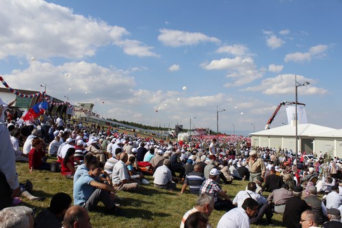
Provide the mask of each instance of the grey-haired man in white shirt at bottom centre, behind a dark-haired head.
{"label": "grey-haired man in white shirt at bottom centre, behind a dark-haired head", "polygon": [[211,212],[213,212],[213,207],[214,207],[213,195],[207,194],[207,193],[200,194],[200,196],[197,197],[196,205],[194,206],[194,208],[192,208],[192,210],[189,210],[184,214],[182,221],[181,221],[180,228],[184,228],[184,223],[185,223],[185,220],[187,220],[187,217],[195,212],[200,212],[204,214],[205,216],[207,216],[207,218],[209,218],[209,216],[211,215]]}

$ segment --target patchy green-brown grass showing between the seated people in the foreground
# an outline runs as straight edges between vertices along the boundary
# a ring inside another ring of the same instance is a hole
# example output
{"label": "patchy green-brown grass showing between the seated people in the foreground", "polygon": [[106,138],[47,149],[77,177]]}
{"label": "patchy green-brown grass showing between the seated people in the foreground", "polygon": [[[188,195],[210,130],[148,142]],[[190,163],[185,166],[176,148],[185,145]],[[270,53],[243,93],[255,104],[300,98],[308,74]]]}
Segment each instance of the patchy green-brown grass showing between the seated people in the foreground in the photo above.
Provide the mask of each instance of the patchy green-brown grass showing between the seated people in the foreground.
{"label": "patchy green-brown grass showing between the seated people in the foreground", "polygon": [[[52,160],[48,160],[51,162]],[[73,181],[66,179],[60,173],[51,173],[47,171],[34,170],[29,173],[28,164],[17,163],[16,168],[20,181],[30,179],[34,183],[35,196],[47,197],[44,201],[29,201],[23,199],[22,205],[36,207],[41,210],[44,207],[49,207],[49,203],[53,194],[57,192],[66,192],[73,196]],[[152,177],[146,177],[153,183]],[[222,185],[224,190],[227,190],[231,199],[246,187],[248,181],[234,181],[231,185]],[[105,207],[102,203],[98,205],[95,212],[90,212],[91,223],[93,227],[179,227],[181,218],[187,210],[194,207],[196,196],[185,193],[180,194],[181,185],[177,184],[176,192],[168,190],[159,190],[150,186],[145,186],[146,191],[142,194],[118,192],[121,200],[120,207],[127,212],[124,217],[116,217],[103,214]],[[209,218],[211,227],[216,227],[218,220],[224,214],[222,211],[214,210]],[[265,221],[266,219],[263,218]],[[282,216],[274,215],[274,225],[281,227]],[[263,227],[252,225],[251,227]]]}

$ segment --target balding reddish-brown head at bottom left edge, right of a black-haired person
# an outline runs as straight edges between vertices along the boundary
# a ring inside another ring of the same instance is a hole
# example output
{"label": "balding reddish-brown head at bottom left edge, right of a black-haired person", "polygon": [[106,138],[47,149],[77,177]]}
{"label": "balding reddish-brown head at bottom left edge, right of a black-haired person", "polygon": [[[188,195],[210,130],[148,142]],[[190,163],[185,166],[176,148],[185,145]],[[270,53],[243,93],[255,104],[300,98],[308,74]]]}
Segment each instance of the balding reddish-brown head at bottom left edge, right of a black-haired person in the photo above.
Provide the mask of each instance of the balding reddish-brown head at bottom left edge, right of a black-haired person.
{"label": "balding reddish-brown head at bottom left edge, right of a black-haired person", "polygon": [[63,220],[64,228],[92,228],[90,224],[90,217],[86,209],[81,206],[70,207],[64,216]]}

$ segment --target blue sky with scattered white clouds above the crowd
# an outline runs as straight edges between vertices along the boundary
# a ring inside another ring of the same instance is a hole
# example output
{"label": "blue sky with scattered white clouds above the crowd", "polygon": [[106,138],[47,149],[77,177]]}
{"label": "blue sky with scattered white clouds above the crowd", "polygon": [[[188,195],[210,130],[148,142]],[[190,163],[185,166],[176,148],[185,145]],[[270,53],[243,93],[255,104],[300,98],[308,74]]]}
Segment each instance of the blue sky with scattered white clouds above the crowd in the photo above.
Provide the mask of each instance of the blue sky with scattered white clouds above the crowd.
{"label": "blue sky with scattered white clouds above the crowd", "polygon": [[[0,0],[0,75],[146,125],[259,131],[281,101],[342,128],[342,2]],[[186,90],[183,90],[186,87]],[[158,110],[158,112],[156,112]],[[271,127],[286,122],[280,110]]]}

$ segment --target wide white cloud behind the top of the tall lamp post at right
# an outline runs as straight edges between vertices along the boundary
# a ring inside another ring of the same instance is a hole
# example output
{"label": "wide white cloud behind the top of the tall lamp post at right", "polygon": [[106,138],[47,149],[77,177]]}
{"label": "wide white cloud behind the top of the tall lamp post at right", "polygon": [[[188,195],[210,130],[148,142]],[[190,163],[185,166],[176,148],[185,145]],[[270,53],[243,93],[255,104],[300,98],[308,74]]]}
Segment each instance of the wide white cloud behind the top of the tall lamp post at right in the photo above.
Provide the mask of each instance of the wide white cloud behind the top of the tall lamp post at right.
{"label": "wide white cloud behind the top of the tall lamp post at right", "polygon": [[[263,94],[273,95],[273,94],[293,94],[295,75],[285,74],[278,75],[277,77],[269,77],[261,81],[260,85],[248,87],[244,91],[261,91]],[[324,88],[314,87],[314,79],[308,79],[302,75],[297,75],[297,81],[309,81],[311,84],[308,86],[303,86],[301,94],[311,95],[311,94],[326,94],[328,90]]]}

